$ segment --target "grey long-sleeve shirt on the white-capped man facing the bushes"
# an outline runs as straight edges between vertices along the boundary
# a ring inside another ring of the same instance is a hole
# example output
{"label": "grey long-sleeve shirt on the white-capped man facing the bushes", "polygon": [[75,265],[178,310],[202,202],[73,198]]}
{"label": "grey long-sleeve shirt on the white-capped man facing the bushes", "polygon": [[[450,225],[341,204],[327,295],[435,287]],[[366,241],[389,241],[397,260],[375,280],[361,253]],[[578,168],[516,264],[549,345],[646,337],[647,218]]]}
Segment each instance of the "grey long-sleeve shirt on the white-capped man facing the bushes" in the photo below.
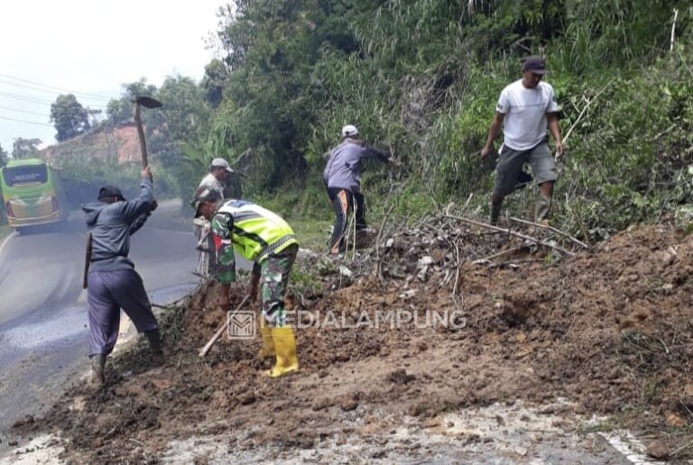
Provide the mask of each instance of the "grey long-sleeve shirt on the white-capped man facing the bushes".
{"label": "grey long-sleeve shirt on the white-capped man facing the bushes", "polygon": [[361,145],[353,139],[345,139],[329,154],[328,165],[322,173],[325,185],[350,192],[361,187],[361,160],[378,160],[386,163],[387,154]]}

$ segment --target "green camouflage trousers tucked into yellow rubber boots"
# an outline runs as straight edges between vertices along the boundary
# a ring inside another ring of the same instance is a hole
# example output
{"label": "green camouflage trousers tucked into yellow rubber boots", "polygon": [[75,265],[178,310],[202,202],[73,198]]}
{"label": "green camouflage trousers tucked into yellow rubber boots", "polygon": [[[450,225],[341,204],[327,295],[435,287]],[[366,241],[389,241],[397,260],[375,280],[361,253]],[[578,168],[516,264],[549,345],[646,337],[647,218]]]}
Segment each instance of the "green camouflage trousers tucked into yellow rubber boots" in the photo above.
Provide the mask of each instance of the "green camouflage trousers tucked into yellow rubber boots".
{"label": "green camouflage trousers tucked into yellow rubber boots", "polygon": [[286,324],[284,293],[298,251],[299,244],[291,244],[283,251],[271,254],[260,264],[263,318],[270,327],[282,328]]}

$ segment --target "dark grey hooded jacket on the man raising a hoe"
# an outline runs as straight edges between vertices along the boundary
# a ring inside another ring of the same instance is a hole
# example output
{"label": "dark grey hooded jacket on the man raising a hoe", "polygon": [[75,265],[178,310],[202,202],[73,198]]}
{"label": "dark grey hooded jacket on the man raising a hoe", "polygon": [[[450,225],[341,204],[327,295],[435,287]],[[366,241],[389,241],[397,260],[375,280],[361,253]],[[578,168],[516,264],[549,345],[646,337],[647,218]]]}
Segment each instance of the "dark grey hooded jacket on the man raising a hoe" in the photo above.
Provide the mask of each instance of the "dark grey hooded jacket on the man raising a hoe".
{"label": "dark grey hooded jacket on the man raising a hoe", "polygon": [[143,226],[154,199],[151,178],[143,178],[141,187],[142,192],[133,200],[82,205],[92,237],[90,272],[134,269],[134,263],[127,258],[130,235]]}

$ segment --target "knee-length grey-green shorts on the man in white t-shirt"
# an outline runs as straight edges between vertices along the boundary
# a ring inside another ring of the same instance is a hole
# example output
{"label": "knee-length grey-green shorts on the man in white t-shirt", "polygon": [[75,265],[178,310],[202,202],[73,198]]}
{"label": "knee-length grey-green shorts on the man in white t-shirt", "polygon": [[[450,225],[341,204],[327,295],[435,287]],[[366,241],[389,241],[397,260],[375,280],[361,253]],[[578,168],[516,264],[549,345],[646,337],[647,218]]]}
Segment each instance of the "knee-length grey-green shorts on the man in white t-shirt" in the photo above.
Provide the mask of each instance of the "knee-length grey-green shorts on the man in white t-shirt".
{"label": "knee-length grey-green shorts on the man in white t-shirt", "polygon": [[525,163],[531,165],[537,185],[559,178],[548,142],[541,142],[530,150],[513,150],[503,146],[499,153],[498,167],[495,169],[494,196],[504,197],[513,192]]}

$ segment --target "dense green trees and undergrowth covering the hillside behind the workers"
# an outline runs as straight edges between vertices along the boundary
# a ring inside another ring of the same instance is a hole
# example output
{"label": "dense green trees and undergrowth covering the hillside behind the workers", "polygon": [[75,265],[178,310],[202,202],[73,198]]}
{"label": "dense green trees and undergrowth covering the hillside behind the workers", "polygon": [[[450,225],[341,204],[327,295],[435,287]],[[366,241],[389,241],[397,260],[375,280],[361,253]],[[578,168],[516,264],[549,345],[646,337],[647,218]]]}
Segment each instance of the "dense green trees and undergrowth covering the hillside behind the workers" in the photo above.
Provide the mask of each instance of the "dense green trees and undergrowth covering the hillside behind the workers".
{"label": "dense green trees and undergrowth covering the hillside behind the workers", "polygon": [[[519,78],[522,57],[544,54],[567,147],[555,224],[594,241],[662,217],[690,223],[686,2],[235,0],[218,17],[223,56],[201,82],[125,84],[91,123],[88,109],[61,96],[53,105],[61,140],[131,123],[132,96],[155,96],[162,109],[143,119],[161,196],[187,201],[208,161],[222,156],[245,174],[245,197],[289,217],[327,219],[324,154],[355,123],[403,162],[397,172],[366,170],[374,218],[384,198],[394,214],[449,202],[485,214],[494,166],[479,150],[495,101]],[[66,126],[70,109],[79,127]],[[132,185],[139,169],[85,161],[79,150],[60,160],[78,202],[105,180]],[[533,196],[529,188],[506,208],[522,215]]]}

